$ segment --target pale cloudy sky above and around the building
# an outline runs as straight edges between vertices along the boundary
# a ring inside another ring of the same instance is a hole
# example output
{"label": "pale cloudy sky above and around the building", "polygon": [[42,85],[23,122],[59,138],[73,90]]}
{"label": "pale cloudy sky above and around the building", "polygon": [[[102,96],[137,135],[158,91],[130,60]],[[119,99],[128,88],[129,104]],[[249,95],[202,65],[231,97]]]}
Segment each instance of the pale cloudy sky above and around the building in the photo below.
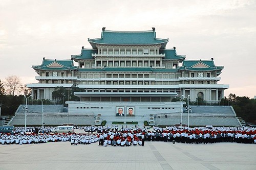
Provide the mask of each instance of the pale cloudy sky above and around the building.
{"label": "pale cloudy sky above and around the building", "polygon": [[156,28],[187,60],[224,66],[225,95],[256,95],[256,1],[84,1],[0,0],[0,80],[16,75],[37,83],[32,65],[42,58],[71,59],[101,28],[145,31]]}

